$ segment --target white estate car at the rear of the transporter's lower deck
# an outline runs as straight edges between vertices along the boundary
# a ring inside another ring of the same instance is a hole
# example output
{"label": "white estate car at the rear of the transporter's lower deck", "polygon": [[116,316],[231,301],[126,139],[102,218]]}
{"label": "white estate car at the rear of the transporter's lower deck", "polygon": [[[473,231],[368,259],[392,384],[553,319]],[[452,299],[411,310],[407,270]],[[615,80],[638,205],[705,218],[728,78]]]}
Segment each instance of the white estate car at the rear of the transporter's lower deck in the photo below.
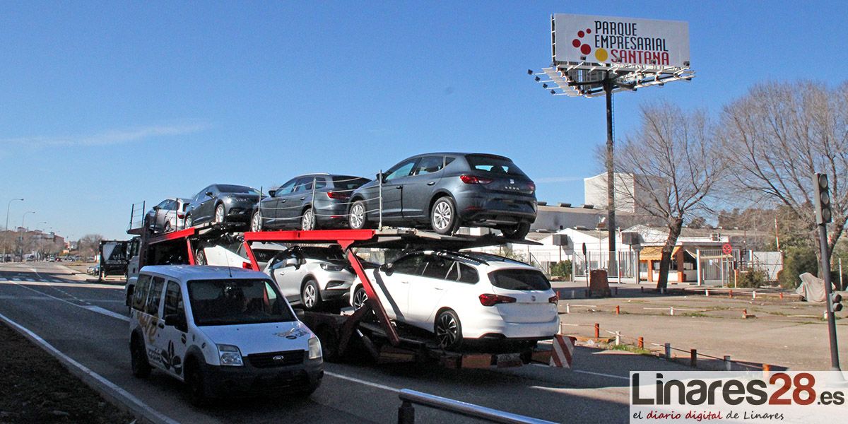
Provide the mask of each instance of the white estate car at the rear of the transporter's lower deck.
{"label": "white estate car at the rear of the transporter's lower deck", "polygon": [[[419,251],[367,271],[389,318],[433,332],[440,347],[550,339],[560,329],[557,297],[533,266],[476,252]],[[350,304],[367,295],[357,279]]]}

